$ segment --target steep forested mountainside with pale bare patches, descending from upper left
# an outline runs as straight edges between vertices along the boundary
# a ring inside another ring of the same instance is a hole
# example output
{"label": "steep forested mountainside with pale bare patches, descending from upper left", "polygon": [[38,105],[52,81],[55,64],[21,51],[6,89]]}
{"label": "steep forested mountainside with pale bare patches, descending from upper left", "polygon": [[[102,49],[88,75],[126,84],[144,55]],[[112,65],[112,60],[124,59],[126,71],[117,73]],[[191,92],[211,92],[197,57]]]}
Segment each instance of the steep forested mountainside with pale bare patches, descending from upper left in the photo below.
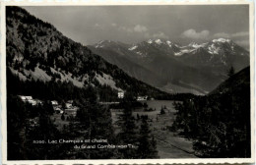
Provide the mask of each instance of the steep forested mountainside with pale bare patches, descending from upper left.
{"label": "steep forested mountainside with pale bare patches, descending from upper left", "polygon": [[109,85],[139,94],[165,94],[129,77],[22,8],[7,7],[6,16],[7,67],[24,81],[72,82],[79,87]]}

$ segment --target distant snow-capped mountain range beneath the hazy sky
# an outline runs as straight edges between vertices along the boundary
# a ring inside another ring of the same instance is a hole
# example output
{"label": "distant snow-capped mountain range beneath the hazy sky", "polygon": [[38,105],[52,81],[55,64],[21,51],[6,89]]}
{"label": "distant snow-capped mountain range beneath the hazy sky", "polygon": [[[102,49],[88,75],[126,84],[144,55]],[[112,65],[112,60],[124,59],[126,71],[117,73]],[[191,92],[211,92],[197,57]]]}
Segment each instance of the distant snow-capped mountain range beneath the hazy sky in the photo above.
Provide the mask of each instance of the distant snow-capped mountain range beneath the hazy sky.
{"label": "distant snow-capped mountain range beneath the hazy sky", "polygon": [[[89,48],[130,76],[172,93],[206,94],[224,82],[229,67],[233,66],[237,72],[249,66],[249,52],[224,38],[185,46],[165,39],[149,39],[137,44],[107,40]],[[140,77],[135,71],[132,73],[134,65],[138,73],[143,68],[147,70],[146,75],[157,75],[155,82]]]}

